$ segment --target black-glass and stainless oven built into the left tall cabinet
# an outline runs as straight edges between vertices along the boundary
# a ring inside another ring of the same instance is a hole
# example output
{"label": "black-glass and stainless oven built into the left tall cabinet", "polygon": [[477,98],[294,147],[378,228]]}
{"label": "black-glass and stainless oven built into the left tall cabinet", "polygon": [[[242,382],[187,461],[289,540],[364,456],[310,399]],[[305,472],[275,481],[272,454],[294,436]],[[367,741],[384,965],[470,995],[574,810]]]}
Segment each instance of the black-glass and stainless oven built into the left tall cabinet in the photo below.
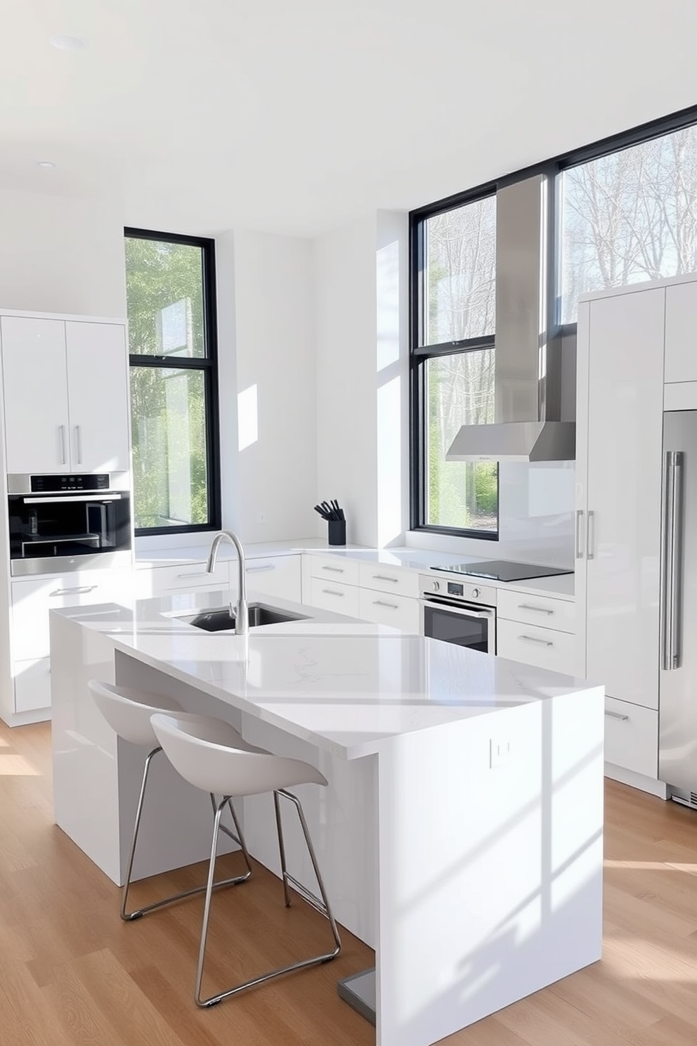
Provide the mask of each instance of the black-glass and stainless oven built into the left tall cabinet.
{"label": "black-glass and stainless oven built into the left tall cabinet", "polygon": [[89,556],[96,566],[106,556],[130,554],[127,492],[10,494],[7,500],[13,574],[85,566]]}

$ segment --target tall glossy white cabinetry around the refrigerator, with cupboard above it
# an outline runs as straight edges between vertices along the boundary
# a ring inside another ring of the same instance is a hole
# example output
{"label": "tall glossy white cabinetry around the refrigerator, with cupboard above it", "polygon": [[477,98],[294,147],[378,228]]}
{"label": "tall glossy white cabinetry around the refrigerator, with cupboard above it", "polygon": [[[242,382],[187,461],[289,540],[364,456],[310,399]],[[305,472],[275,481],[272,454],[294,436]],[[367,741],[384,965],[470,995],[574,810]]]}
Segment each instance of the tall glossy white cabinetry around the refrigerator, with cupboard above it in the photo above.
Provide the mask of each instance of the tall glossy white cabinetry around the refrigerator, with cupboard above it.
{"label": "tall glossy white cabinetry around the refrigerator, with cupboard above it", "polygon": [[669,400],[677,400],[674,409],[697,406],[695,331],[695,275],[603,291],[579,303],[577,673],[605,684],[608,775],[664,796],[663,415]]}

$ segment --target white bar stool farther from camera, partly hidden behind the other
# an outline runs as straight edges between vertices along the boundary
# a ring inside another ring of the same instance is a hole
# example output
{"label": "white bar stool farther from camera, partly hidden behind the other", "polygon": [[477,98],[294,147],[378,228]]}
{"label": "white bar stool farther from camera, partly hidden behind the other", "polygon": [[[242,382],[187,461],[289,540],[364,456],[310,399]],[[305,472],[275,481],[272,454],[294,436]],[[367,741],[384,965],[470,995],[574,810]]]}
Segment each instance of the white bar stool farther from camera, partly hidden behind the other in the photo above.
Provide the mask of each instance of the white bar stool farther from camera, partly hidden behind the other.
{"label": "white bar stool farther from camera, partly hidden behind the other", "polygon": [[[91,679],[87,685],[92,692],[94,703],[107,720],[107,723],[112,728],[114,733],[116,733],[119,737],[123,737],[124,741],[130,741],[134,745],[141,745],[149,748],[147,756],[145,757],[145,766],[143,767],[140,795],[138,797],[138,806],[136,808],[136,821],[133,827],[133,840],[131,842],[131,852],[129,855],[129,865],[125,873],[125,882],[123,883],[123,889],[121,892],[120,915],[121,918],[127,923],[133,919],[140,918],[147,912],[155,911],[156,908],[162,908],[164,905],[170,905],[175,901],[181,901],[183,897],[192,896],[194,893],[203,893],[206,889],[206,886],[194,886],[190,890],[183,890],[181,893],[176,893],[172,896],[163,899],[162,901],[156,901],[153,904],[145,905],[143,908],[138,908],[135,911],[126,911],[129,888],[131,886],[131,874],[133,872],[133,860],[136,854],[136,843],[138,842],[138,831],[140,828],[140,817],[143,811],[143,799],[145,797],[147,775],[149,773],[150,763],[153,761],[154,756],[156,756],[158,752],[162,751],[162,748],[158,743],[158,738],[155,735],[155,731],[153,730],[150,717],[157,711],[181,712],[182,708],[181,705],[172,698],[163,697],[160,693],[147,693],[144,690],[137,690],[133,687],[114,686],[112,683],[102,683],[97,679]],[[239,748],[249,748],[251,751],[259,751],[259,749],[255,749],[253,746],[248,746],[241,734],[238,733],[234,727],[230,726],[229,723],[224,723],[222,720],[211,719],[204,715],[194,715],[192,719],[200,723],[200,729],[203,732],[206,732],[206,734],[211,737],[219,738],[223,744],[236,745]],[[217,800],[212,793],[210,798],[213,813],[217,816],[217,821],[219,822],[219,815],[217,814]],[[243,883],[252,873],[250,856],[247,851],[245,838],[239,829],[239,824],[237,822],[237,817],[232,802],[228,803],[228,808],[230,810],[230,814],[232,815],[235,831],[231,832],[225,824],[220,825],[220,831],[225,832],[226,835],[234,840],[234,842],[236,842],[241,848],[247,863],[247,872],[243,876],[234,876],[232,879],[222,880],[220,882],[214,884],[215,888],[220,886],[233,886],[236,883]]]}

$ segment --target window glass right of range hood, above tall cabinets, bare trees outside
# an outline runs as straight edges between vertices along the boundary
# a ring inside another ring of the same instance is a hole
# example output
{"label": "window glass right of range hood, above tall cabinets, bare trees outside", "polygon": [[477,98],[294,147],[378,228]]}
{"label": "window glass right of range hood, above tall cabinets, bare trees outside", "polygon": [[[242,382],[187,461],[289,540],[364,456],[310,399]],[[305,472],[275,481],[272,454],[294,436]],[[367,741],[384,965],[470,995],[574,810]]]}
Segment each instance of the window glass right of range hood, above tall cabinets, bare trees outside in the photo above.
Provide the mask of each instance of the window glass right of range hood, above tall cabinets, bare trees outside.
{"label": "window glass right of range hood, above tall cabinets, bare trees outside", "polygon": [[580,294],[697,269],[697,128],[561,176],[560,320]]}

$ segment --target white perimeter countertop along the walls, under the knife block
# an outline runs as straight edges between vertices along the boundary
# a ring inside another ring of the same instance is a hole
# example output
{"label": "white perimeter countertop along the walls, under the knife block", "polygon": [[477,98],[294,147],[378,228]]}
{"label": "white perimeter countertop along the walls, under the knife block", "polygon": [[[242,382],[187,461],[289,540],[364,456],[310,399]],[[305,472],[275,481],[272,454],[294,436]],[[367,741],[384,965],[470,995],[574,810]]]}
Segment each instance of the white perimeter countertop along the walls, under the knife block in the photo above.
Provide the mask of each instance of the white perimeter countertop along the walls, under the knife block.
{"label": "white perimeter countertop along the walls, under the knife block", "polygon": [[[162,567],[181,564],[205,563],[208,559],[210,542],[206,545],[193,545],[188,548],[136,549],[136,567]],[[345,545],[341,548],[327,545],[321,538],[299,538],[295,541],[260,542],[245,545],[245,555],[248,560],[263,559],[270,555],[294,555],[301,552],[316,552],[336,555],[344,559],[361,560],[364,563],[380,564],[386,567],[404,567],[409,570],[427,572],[431,567],[447,567],[454,563],[481,563],[483,555],[461,555],[458,552],[436,552],[424,548],[366,548],[361,545]],[[220,545],[218,559],[234,560],[235,550],[227,542]],[[497,559],[495,551],[489,559]],[[436,574],[435,576],[442,576]],[[461,575],[451,575],[454,578]],[[477,583],[477,578],[468,578]],[[491,578],[480,578],[482,584],[494,588],[512,588],[517,592],[531,594],[542,593],[561,599],[574,598],[574,573],[555,574],[552,577],[536,577],[521,582],[497,582]]]}

